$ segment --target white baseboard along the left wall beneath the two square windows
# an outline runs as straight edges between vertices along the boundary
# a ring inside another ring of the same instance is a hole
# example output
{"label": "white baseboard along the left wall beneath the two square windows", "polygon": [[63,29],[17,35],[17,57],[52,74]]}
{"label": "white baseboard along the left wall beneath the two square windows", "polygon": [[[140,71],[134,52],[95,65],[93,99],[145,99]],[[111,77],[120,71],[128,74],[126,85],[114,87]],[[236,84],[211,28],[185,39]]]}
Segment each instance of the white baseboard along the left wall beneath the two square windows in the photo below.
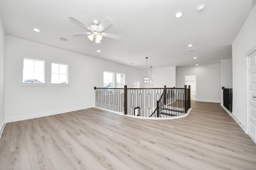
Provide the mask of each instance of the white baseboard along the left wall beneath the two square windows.
{"label": "white baseboard along the left wall beneath the two square windows", "polygon": [[50,115],[57,115],[57,114],[60,114],[60,113],[67,113],[67,112],[70,112],[70,111],[88,109],[90,107],[94,107],[94,106],[80,106],[80,107],[73,107],[73,108],[69,108],[69,109],[62,109],[62,110],[47,111],[47,112],[43,112],[43,113],[36,113],[36,114],[31,114],[31,115],[7,117],[6,118],[6,123],[14,122],[14,121],[27,120],[27,119],[34,119],[34,118],[50,116]]}

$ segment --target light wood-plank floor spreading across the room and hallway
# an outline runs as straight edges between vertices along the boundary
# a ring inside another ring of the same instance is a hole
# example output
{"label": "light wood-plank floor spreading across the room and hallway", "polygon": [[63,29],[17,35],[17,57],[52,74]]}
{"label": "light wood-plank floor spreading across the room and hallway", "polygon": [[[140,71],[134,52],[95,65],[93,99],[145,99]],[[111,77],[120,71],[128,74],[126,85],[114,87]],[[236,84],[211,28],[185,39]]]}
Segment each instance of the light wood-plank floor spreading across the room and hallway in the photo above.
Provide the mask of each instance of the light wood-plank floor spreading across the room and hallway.
{"label": "light wood-plank floor spreading across the room and hallway", "polygon": [[220,104],[191,104],[172,120],[90,108],[7,123],[0,169],[256,169],[255,143]]}

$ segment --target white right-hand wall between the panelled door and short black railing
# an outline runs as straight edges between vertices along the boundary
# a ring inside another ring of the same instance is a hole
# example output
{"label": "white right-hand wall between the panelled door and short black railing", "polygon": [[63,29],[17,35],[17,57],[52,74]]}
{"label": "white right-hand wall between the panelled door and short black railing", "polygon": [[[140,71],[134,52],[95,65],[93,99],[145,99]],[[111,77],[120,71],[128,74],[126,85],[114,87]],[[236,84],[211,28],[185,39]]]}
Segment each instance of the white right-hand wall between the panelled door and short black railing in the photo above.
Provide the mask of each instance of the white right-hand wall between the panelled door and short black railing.
{"label": "white right-hand wall between the panelled door and short black railing", "polygon": [[232,115],[246,131],[246,53],[256,45],[256,6],[232,43]]}

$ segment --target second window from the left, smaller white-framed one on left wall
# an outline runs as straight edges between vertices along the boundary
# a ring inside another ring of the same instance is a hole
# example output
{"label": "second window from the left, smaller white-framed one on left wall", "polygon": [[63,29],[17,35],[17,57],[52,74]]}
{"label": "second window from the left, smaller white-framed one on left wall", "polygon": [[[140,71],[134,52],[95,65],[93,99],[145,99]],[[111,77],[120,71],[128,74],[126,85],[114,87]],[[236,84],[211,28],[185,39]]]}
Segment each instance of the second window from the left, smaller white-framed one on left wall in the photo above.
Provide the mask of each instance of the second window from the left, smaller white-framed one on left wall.
{"label": "second window from the left, smaller white-framed one on left wall", "polygon": [[68,64],[52,63],[52,84],[68,84]]}

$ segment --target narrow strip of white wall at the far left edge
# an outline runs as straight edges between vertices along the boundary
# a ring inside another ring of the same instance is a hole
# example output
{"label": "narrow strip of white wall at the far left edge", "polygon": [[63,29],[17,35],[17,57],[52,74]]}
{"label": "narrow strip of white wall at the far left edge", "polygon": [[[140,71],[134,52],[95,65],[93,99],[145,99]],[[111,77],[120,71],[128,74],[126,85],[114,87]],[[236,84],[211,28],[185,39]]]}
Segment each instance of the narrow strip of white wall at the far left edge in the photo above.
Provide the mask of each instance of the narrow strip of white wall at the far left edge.
{"label": "narrow strip of white wall at the far left edge", "polygon": [[5,113],[4,113],[4,44],[5,32],[2,20],[0,17],[0,137],[4,128]]}

